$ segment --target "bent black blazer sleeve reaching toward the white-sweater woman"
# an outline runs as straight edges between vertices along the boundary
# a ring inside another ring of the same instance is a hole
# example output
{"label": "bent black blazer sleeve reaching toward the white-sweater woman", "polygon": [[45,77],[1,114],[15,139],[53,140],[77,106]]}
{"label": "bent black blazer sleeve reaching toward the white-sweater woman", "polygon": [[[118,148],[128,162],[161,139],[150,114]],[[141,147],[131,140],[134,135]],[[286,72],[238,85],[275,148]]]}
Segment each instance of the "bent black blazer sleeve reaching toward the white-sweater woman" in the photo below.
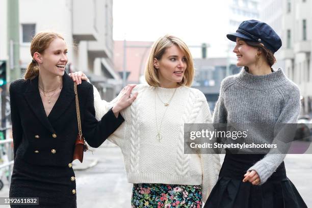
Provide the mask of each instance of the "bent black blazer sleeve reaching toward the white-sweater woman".
{"label": "bent black blazer sleeve reaching toward the white-sweater woman", "polygon": [[99,147],[124,121],[119,114],[116,118],[110,109],[100,121],[95,118],[93,86],[89,87],[86,99],[86,109],[84,113],[84,123],[82,125],[83,135],[91,147]]}

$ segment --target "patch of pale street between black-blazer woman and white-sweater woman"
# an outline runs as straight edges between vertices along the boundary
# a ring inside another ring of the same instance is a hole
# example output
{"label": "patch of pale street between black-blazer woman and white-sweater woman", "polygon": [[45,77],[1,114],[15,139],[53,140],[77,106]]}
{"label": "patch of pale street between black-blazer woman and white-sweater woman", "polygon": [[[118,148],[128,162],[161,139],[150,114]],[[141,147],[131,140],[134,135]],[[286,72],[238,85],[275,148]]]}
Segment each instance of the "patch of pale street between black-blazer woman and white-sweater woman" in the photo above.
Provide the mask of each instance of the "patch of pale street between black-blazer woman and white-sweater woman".
{"label": "patch of pale street between black-blazer woman and white-sweater woman", "polygon": [[[130,207],[132,184],[127,183],[123,158],[118,147],[100,147],[87,158],[98,163],[93,168],[75,171],[78,207]],[[75,163],[76,164],[76,163]]]}

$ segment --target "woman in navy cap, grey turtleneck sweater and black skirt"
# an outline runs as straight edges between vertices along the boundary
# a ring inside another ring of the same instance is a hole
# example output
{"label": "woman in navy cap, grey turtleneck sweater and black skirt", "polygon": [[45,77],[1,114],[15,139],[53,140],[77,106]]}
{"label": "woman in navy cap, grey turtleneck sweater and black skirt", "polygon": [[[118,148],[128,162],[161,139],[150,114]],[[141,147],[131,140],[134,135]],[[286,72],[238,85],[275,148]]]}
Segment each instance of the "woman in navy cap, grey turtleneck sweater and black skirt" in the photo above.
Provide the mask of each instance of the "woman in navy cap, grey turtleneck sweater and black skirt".
{"label": "woman in navy cap, grey turtleneck sweater and black skirt", "polygon": [[[265,131],[254,128],[247,142],[269,138],[274,143],[277,126],[296,123],[300,111],[299,88],[281,69],[272,68],[281,40],[268,24],[256,20],[243,21],[227,38],[236,42],[233,52],[237,66],[243,69],[222,81],[213,122],[251,124],[249,127],[264,124]],[[226,149],[218,182],[204,207],[307,207],[286,176],[285,152],[269,151],[232,154]]]}

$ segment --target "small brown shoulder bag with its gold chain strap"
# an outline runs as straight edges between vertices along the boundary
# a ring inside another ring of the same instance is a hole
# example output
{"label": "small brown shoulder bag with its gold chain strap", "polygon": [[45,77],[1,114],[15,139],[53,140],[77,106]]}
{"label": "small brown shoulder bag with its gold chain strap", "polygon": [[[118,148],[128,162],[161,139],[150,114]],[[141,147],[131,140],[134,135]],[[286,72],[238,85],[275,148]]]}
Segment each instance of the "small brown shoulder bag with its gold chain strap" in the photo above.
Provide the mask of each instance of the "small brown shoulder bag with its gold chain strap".
{"label": "small brown shoulder bag with its gold chain strap", "polygon": [[81,119],[80,119],[80,108],[79,108],[79,100],[78,100],[78,93],[77,93],[77,84],[74,82],[74,92],[75,92],[75,100],[76,100],[76,113],[77,113],[77,121],[78,121],[78,135],[75,143],[75,149],[73,153],[72,160],[78,159],[81,163],[84,159],[84,151],[87,151],[88,146],[86,144],[85,138],[82,134],[81,129]]}

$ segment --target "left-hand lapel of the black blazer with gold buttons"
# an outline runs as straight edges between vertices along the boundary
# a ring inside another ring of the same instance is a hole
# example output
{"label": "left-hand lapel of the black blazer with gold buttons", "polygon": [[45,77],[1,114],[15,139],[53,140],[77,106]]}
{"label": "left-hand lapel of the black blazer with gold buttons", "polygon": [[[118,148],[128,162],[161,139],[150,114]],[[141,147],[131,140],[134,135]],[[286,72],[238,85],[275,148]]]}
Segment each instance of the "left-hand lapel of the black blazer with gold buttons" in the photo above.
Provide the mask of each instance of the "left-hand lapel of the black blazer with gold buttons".
{"label": "left-hand lapel of the black blazer with gold buttons", "polygon": [[24,97],[27,100],[30,109],[35,113],[41,123],[50,131],[55,132],[53,126],[48,121],[44,112],[43,103],[38,89],[38,76],[29,82],[25,90]]}

